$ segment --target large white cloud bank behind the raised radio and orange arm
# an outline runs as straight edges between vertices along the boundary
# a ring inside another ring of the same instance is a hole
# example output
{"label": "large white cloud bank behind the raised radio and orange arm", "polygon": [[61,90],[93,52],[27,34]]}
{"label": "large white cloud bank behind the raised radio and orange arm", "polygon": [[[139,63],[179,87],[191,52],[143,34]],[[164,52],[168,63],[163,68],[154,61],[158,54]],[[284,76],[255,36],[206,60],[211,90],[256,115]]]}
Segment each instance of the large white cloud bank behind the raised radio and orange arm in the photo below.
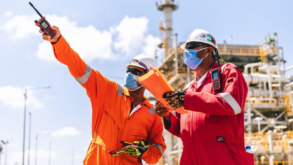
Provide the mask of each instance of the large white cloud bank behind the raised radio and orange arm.
{"label": "large white cloud bank behind the raised radio and orange arm", "polygon": [[[9,12],[7,12],[9,15]],[[12,13],[10,13],[11,15]],[[31,36],[39,36],[39,27],[33,20],[38,15],[15,15],[11,20],[0,25],[0,30],[8,34],[12,40],[19,40]],[[55,14],[46,15],[52,25],[57,25],[61,34],[70,43],[70,46],[79,53],[86,62],[95,59],[119,60],[124,57],[135,56],[143,51],[154,54],[157,37],[147,35],[148,19],[146,17],[125,16],[117,26],[101,31],[94,26],[79,26],[76,21],[70,21],[66,16]],[[19,26],[19,25],[22,26]],[[56,61],[50,42],[42,41],[38,44],[36,56],[45,61]]]}

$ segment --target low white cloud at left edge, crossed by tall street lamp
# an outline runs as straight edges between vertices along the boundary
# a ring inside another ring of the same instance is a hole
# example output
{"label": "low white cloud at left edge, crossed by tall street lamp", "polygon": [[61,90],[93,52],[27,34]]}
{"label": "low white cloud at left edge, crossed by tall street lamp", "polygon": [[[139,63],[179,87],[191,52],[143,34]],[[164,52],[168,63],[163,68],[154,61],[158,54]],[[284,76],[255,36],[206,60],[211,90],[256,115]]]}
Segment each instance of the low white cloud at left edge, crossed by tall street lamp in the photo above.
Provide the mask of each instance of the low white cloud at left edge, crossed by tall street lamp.
{"label": "low white cloud at left edge, crossed by tall street lamp", "polygon": [[[29,88],[29,87],[26,87]],[[24,108],[24,92],[25,88],[19,86],[2,86],[0,87],[0,102],[3,105],[9,106],[10,108]],[[32,108],[44,107],[41,102],[36,99],[33,91],[27,91],[26,105]]]}

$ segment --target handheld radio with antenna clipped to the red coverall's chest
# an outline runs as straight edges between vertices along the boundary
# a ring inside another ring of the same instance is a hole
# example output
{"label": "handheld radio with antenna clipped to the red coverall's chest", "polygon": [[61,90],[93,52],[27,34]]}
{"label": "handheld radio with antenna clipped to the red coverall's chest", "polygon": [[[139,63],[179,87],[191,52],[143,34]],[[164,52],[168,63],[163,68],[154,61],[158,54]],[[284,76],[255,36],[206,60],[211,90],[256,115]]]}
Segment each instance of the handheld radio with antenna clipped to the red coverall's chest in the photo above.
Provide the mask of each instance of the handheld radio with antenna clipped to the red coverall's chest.
{"label": "handheld radio with antenna clipped to the red coverall's chest", "polygon": [[218,68],[210,70],[210,74],[212,76],[213,90],[215,92],[219,92],[222,90],[222,75],[221,75],[221,67],[219,61],[219,53],[216,51],[216,56],[218,58]]}

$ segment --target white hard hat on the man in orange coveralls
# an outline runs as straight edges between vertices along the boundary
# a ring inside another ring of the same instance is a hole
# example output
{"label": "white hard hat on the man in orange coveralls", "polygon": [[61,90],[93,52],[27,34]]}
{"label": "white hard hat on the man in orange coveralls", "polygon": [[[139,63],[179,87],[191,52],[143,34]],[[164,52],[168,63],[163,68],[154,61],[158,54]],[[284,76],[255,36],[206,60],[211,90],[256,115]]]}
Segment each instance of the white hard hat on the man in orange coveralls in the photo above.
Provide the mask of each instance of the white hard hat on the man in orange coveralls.
{"label": "white hard hat on the man in orange coveralls", "polygon": [[126,67],[130,65],[141,67],[145,69],[146,72],[149,72],[157,67],[156,61],[146,53],[135,56],[128,64],[125,64]]}

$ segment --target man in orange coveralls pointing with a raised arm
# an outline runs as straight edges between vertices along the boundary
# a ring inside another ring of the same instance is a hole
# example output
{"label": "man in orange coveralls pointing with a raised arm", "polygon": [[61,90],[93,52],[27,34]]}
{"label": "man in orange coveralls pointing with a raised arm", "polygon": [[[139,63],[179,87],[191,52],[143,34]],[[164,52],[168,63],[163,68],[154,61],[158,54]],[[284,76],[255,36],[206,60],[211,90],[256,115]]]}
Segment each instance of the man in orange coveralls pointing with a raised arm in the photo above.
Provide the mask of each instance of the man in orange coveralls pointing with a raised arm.
{"label": "man in orange coveralls pointing with a raised arm", "polygon": [[[139,159],[148,164],[158,163],[166,149],[163,124],[154,106],[143,95],[145,88],[133,78],[155,68],[156,62],[146,54],[134,57],[126,64],[126,88],[123,88],[87,65],[70,48],[58,27],[50,28],[56,31],[56,36],[51,39],[43,33],[43,39],[51,42],[56,59],[68,66],[71,75],[86,89],[92,104],[93,140],[84,165],[142,164]],[[120,141],[135,145],[117,154],[119,156],[109,154],[122,146]]]}

